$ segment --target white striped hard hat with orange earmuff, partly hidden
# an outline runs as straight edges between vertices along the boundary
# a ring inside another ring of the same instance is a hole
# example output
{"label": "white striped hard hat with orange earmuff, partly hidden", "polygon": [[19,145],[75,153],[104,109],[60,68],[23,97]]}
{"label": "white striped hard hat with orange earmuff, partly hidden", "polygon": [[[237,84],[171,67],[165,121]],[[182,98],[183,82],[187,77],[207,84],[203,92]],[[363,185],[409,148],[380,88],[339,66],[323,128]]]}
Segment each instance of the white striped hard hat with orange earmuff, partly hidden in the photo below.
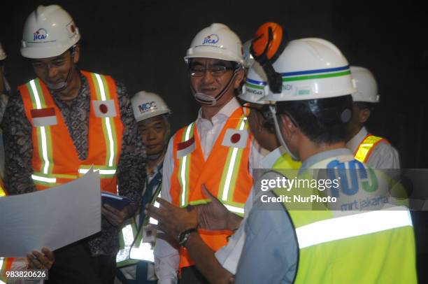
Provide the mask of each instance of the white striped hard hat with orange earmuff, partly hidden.
{"label": "white striped hard hat with orange earmuff, partly hidden", "polygon": [[266,73],[264,73],[259,62],[253,62],[252,67],[248,70],[247,79],[242,86],[242,94],[238,97],[243,101],[255,104],[269,104],[269,101],[261,100],[264,97],[267,85]]}

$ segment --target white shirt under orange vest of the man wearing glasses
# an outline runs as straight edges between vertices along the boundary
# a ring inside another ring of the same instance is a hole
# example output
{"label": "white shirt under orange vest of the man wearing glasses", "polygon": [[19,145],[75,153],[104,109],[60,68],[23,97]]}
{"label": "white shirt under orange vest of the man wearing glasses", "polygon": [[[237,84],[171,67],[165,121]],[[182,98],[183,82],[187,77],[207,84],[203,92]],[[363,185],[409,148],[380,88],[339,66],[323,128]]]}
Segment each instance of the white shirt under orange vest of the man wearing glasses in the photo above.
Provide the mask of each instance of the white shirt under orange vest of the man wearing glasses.
{"label": "white shirt under orange vest of the man wearing glasses", "polygon": [[[240,108],[241,105],[238,100],[234,97],[226,105],[220,109],[220,111],[213,116],[210,120],[202,118],[201,110],[199,110],[198,118],[196,120],[196,127],[201,141],[202,152],[204,152],[205,160],[213,149],[213,145],[217,140],[222,128],[224,127],[227,119],[231,116],[236,108]],[[164,178],[162,180],[162,192],[161,196],[167,201],[172,201],[170,188],[171,188],[171,175],[174,170],[174,159],[173,159],[173,140],[174,136],[171,137],[168,144],[168,150],[164,159]],[[252,169],[258,169],[262,160],[260,154],[261,147],[255,141],[252,140],[250,146],[250,159],[249,168],[250,173]],[[157,278],[159,278],[159,284],[170,284],[177,283],[177,271],[178,264],[180,262],[180,255],[176,248],[173,248],[168,242],[157,239],[155,246],[155,270]]]}

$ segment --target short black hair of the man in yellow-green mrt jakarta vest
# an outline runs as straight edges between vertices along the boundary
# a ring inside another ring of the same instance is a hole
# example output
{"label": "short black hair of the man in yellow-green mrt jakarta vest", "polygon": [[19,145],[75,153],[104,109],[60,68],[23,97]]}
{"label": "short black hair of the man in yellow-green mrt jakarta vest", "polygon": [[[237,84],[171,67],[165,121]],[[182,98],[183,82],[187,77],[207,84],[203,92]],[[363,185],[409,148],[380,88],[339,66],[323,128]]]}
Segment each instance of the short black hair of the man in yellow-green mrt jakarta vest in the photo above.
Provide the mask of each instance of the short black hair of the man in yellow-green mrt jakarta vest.
{"label": "short black hair of the man in yellow-green mrt jakarta vest", "polygon": [[345,141],[351,117],[350,95],[327,99],[277,102],[278,113],[289,115],[301,132],[314,143]]}

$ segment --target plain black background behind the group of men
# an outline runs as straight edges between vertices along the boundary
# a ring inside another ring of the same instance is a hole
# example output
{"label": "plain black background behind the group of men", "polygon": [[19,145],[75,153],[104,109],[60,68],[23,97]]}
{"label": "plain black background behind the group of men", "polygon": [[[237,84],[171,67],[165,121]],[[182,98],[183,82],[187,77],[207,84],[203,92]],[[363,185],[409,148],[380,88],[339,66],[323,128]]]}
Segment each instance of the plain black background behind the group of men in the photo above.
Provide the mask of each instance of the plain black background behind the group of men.
{"label": "plain black background behind the group of men", "polygon": [[[402,167],[428,168],[428,10],[422,2],[8,2],[8,7],[1,5],[0,41],[8,53],[7,76],[13,87],[33,77],[19,51],[27,15],[39,4],[59,3],[82,35],[80,68],[113,76],[127,85],[129,94],[138,90],[161,94],[173,110],[173,130],[197,115],[183,56],[200,29],[222,22],[246,41],[259,24],[273,21],[283,24],[292,39],[326,38],[350,64],[370,69],[378,80],[381,103],[369,120],[369,130],[391,141]],[[425,221],[421,228],[427,228]],[[421,243],[418,246],[428,251]]]}

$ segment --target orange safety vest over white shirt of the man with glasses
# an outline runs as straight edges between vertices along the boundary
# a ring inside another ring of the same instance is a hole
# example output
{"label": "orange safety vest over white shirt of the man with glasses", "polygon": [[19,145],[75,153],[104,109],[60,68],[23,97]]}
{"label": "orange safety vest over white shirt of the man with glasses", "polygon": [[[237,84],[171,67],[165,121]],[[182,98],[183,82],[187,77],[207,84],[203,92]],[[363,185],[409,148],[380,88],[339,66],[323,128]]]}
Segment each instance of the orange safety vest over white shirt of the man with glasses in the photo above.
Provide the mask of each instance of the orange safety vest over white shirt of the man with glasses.
{"label": "orange safety vest over white shirt of the man with glasses", "polygon": [[[178,130],[173,141],[174,170],[170,190],[173,204],[186,207],[206,203],[201,192],[201,185],[205,184],[229,211],[243,215],[252,187],[248,169],[250,145],[251,135],[242,108],[229,117],[206,161],[195,123]],[[200,229],[199,235],[217,251],[227,244],[231,232]],[[180,248],[180,268],[193,264],[187,250]]]}

